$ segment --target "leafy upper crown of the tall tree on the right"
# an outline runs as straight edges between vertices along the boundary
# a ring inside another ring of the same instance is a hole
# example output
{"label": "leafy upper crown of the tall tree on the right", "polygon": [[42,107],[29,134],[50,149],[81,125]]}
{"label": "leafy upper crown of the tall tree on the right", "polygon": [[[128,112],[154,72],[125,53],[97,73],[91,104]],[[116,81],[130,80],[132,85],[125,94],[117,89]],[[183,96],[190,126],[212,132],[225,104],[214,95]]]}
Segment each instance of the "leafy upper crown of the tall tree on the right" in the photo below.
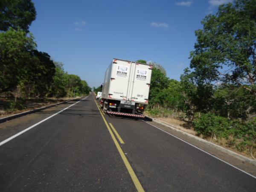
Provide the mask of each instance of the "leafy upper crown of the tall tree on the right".
{"label": "leafy upper crown of the tall tree on the right", "polygon": [[256,95],[256,0],[235,0],[195,32],[190,67],[198,85],[232,83]]}

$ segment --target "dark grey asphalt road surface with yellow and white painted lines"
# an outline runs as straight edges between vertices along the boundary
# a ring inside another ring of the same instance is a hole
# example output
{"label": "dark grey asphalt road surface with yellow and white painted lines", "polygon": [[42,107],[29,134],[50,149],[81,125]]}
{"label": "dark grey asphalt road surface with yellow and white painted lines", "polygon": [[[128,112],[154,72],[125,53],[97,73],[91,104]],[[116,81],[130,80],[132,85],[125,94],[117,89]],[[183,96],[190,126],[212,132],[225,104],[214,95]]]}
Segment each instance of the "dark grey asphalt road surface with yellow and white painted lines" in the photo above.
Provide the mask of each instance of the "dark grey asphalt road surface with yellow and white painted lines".
{"label": "dark grey asphalt road surface with yellow and white painted lines", "polygon": [[[0,142],[73,104],[1,123]],[[146,122],[102,114],[92,95],[0,144],[1,192],[137,190],[255,192],[256,178]]]}

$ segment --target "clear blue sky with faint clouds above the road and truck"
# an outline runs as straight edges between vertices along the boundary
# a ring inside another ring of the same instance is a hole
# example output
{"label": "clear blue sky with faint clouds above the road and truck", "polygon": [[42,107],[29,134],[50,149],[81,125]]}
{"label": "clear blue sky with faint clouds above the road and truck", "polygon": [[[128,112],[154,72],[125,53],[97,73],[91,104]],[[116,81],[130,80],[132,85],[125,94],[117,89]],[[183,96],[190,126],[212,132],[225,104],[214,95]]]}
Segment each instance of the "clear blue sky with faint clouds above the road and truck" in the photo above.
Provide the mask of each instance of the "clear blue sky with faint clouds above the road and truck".
{"label": "clear blue sky with faint clouds above the road and truck", "polygon": [[112,58],[163,65],[180,80],[201,20],[230,0],[33,0],[38,50],[93,87]]}

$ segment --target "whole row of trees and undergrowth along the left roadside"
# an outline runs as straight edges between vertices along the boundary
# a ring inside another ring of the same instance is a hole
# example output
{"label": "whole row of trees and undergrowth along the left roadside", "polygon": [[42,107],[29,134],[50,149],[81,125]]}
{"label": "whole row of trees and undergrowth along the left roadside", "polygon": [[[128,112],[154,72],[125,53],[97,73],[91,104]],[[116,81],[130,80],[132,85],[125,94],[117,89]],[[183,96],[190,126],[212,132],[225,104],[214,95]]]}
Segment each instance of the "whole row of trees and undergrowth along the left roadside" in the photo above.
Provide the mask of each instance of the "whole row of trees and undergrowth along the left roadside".
{"label": "whole row of trees and undergrowth along the left roadside", "polygon": [[30,108],[33,103],[57,102],[59,98],[90,92],[86,81],[68,74],[62,63],[52,61],[48,53],[37,50],[35,39],[29,32],[35,17],[36,10],[31,0],[1,2],[1,114]]}

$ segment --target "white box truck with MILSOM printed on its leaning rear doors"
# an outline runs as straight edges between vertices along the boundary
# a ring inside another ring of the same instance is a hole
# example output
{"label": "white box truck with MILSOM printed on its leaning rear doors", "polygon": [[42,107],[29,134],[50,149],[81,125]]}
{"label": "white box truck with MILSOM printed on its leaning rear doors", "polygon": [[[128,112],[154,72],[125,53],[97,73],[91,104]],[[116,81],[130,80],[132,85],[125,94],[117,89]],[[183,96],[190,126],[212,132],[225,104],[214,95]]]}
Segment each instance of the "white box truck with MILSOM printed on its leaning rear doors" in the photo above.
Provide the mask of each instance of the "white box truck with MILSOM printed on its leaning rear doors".
{"label": "white box truck with MILSOM printed on its leaning rear doors", "polygon": [[109,114],[145,117],[152,65],[114,58],[105,72],[101,106]]}

